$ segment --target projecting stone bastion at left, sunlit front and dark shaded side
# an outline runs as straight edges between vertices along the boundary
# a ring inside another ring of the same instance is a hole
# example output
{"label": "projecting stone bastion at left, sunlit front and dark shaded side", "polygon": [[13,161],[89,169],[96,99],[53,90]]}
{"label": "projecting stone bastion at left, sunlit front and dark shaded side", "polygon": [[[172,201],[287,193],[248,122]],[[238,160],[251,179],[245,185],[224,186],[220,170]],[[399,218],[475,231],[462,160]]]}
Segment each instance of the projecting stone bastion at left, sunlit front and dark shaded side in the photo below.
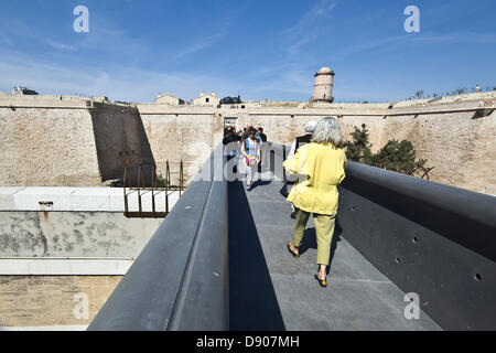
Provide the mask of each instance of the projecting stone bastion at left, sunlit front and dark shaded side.
{"label": "projecting stone bastion at left, sunlit front and dark shaded side", "polygon": [[61,96],[0,98],[1,186],[101,186],[151,163],[138,109]]}

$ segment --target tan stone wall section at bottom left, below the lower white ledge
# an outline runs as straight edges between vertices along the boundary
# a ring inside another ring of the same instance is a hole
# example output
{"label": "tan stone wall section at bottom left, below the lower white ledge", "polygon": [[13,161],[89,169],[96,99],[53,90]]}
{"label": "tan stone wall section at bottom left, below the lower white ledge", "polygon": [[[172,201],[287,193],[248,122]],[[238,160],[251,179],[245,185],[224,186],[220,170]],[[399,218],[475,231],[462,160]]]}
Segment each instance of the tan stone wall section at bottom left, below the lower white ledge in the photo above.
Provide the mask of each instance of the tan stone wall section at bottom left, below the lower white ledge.
{"label": "tan stone wall section at bottom left, below the lower white ledge", "polygon": [[[0,330],[88,325],[122,276],[0,276]],[[75,295],[88,299],[88,318]],[[74,312],[76,311],[76,315]]]}

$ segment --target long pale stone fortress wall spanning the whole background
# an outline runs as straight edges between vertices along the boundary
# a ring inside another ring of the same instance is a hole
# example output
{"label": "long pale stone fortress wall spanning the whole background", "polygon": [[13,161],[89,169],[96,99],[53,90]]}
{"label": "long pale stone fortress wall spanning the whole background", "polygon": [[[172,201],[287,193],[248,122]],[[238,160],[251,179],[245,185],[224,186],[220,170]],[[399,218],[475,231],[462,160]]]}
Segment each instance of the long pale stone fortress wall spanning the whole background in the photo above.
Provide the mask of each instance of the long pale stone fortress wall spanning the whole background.
{"label": "long pale stone fortress wall spanning the whole background", "polygon": [[308,121],[337,116],[345,139],[366,124],[375,150],[389,139],[408,139],[418,157],[435,167],[432,181],[496,194],[495,101],[496,93],[391,105],[267,100],[208,106],[1,96],[0,185],[105,185],[122,178],[127,159],[155,161],[163,175],[169,160],[173,183],[183,160],[187,181],[222,141],[225,118],[235,119],[238,130],[261,126],[269,140],[290,143]]}

